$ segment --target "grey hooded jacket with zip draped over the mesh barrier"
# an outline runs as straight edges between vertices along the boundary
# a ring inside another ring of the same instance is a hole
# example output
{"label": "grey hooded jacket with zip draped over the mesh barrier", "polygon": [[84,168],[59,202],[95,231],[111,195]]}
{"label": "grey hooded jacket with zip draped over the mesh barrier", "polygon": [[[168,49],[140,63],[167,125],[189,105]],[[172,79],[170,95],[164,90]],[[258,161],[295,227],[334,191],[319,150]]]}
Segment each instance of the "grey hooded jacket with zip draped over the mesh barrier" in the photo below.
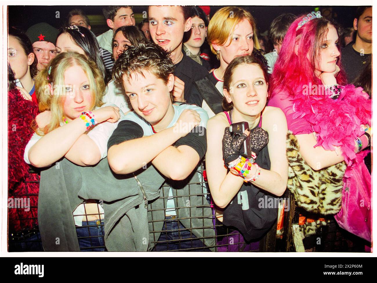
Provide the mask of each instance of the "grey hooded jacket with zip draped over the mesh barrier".
{"label": "grey hooded jacket with zip draped over the mesh barrier", "polygon": [[[152,250],[151,242],[158,240],[165,218],[167,198],[159,198],[169,194],[169,186],[162,187],[164,182],[165,177],[152,165],[134,174],[116,175],[107,158],[87,167],[63,158],[41,172],[38,223],[44,250],[80,251],[72,211],[83,199],[103,203],[108,251]],[[206,246],[215,246],[212,211],[203,206],[207,200],[198,182],[195,172],[174,182],[172,188],[181,196],[175,198],[177,215]]]}

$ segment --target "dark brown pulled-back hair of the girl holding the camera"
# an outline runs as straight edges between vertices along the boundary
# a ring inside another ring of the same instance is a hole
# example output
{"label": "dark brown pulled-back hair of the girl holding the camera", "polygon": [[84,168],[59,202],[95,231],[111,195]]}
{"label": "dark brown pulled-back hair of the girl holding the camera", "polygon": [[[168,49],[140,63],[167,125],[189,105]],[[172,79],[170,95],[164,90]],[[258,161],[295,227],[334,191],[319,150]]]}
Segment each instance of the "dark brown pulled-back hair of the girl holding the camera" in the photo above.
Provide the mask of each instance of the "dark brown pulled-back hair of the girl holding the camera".
{"label": "dark brown pulled-back hair of the girl holding the camera", "polygon": [[[229,63],[229,65],[227,66],[227,68],[225,69],[225,72],[224,72],[223,88],[226,89],[228,92],[230,90],[230,83],[233,79],[233,72],[239,65],[242,65],[242,64],[258,65],[259,68],[261,68],[262,71],[263,71],[263,75],[264,75],[264,79],[265,79],[266,83],[268,83],[267,69],[266,69],[265,65],[261,62],[261,60],[254,57],[253,55],[238,56],[238,57],[234,58],[233,60],[231,60],[231,62]],[[225,111],[230,111],[231,109],[233,109],[233,102],[230,102],[230,103],[227,102],[227,99],[224,96],[224,98],[222,100],[222,108],[224,108]]]}

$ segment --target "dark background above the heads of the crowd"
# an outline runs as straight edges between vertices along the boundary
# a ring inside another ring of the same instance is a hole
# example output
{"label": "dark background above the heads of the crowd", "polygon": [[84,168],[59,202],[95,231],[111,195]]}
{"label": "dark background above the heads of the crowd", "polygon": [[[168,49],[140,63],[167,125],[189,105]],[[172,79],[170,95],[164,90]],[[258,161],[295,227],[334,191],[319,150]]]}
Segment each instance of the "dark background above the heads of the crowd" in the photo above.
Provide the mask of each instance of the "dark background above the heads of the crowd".
{"label": "dark background above the heads of the crowd", "polygon": [[[55,28],[65,25],[67,14],[72,9],[82,9],[90,19],[92,31],[101,34],[109,28],[102,14],[104,6],[8,6],[8,25],[26,31],[30,26],[46,22]],[[211,6],[211,17],[216,10],[223,6]],[[260,33],[268,30],[270,23],[280,14],[292,13],[296,15],[307,14],[319,8],[323,16],[330,15],[344,28],[352,27],[357,6],[243,6],[248,9],[256,19]],[[60,18],[57,18],[59,12]],[[136,25],[143,19],[143,11],[148,11],[148,6],[133,6]],[[145,14],[145,13],[144,13]]]}

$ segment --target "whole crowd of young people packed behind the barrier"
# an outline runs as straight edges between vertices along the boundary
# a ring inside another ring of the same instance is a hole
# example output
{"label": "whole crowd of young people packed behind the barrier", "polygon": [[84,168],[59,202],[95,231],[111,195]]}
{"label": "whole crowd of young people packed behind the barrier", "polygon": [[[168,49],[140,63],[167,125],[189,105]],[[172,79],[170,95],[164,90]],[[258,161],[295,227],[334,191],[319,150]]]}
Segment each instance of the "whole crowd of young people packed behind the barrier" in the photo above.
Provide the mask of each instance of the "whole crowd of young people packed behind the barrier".
{"label": "whole crowd of young people packed behind the barrier", "polygon": [[213,251],[220,226],[247,251],[287,188],[302,227],[333,215],[370,246],[372,8],[346,30],[282,14],[259,38],[246,7],[210,9],[136,25],[105,6],[97,37],[79,9],[8,28],[8,203],[31,208],[8,205],[9,251]]}

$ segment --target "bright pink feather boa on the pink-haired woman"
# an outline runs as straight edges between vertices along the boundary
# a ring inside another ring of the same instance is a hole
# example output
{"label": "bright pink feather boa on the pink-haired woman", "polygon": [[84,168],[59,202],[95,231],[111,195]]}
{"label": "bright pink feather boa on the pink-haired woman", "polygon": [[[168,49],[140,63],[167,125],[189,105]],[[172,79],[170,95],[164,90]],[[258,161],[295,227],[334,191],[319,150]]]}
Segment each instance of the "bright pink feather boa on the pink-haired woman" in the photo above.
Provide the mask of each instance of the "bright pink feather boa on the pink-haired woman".
{"label": "bright pink feather boa on the pink-haired woman", "polygon": [[372,102],[368,94],[354,85],[342,86],[336,100],[329,95],[296,95],[293,118],[303,118],[316,132],[317,144],[327,150],[339,146],[348,166],[356,161],[355,139],[363,134],[360,125],[371,125]]}

